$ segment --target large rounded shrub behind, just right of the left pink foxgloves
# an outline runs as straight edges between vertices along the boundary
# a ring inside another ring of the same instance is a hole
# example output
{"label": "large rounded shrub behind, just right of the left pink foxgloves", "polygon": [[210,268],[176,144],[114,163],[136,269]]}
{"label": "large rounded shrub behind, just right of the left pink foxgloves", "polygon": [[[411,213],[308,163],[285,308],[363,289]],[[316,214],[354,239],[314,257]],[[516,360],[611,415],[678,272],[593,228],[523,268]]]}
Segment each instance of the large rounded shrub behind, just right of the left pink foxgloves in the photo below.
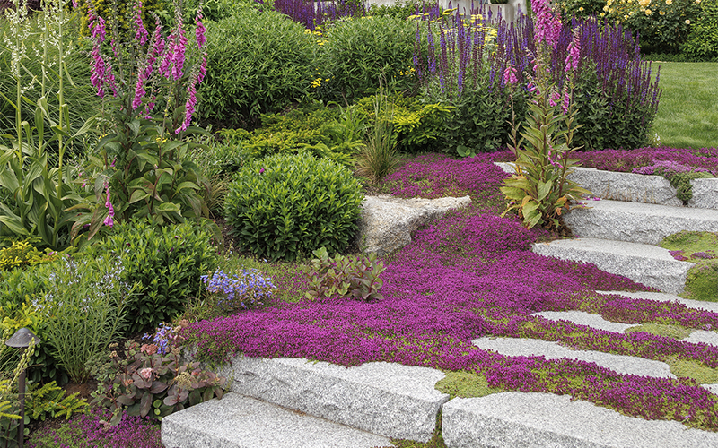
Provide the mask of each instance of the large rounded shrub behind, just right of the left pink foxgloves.
{"label": "large rounded shrub behind, just right of the left pink foxgloves", "polygon": [[207,24],[207,72],[199,84],[199,119],[220,127],[258,123],[303,98],[315,72],[309,35],[275,11],[239,8]]}

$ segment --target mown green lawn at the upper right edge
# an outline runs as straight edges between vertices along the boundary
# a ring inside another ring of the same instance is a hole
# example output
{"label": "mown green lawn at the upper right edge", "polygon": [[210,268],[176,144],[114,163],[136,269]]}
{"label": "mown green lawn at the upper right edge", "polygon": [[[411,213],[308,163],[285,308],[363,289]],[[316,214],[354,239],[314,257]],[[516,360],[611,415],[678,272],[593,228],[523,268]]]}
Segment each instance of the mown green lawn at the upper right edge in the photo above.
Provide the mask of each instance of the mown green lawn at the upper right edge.
{"label": "mown green lawn at the upper right edge", "polygon": [[654,62],[663,89],[652,127],[673,148],[718,146],[718,64]]}

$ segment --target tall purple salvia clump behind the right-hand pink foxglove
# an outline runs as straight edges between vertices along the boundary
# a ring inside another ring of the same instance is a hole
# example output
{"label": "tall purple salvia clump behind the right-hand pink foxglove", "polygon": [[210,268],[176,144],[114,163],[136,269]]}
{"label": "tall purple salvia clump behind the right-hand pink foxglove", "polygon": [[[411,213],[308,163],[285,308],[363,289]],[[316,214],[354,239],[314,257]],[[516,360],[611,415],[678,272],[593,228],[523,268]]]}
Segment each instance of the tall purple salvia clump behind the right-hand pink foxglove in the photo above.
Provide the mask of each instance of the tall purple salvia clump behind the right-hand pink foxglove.
{"label": "tall purple salvia clump behind the right-hand pink foxglove", "polygon": [[[514,111],[517,123],[522,122],[529,77],[537,76],[530,57],[537,54],[536,20],[527,17],[490,25],[478,15],[466,22],[457,15],[435,32],[436,25],[427,28],[428,46],[417,45],[415,54],[419,80],[431,101],[442,99],[457,107],[447,120],[450,139],[444,151],[471,155],[496,151],[509,143],[507,122],[512,111],[503,73],[509,65],[515,69],[521,88],[513,92]],[[567,18],[563,24],[556,22],[554,62],[547,68],[549,80],[561,91],[568,48],[574,40],[572,29],[578,32],[582,49],[571,89],[577,111],[574,142],[585,151],[644,145],[658,110],[660,89],[658,79],[652,81],[650,65],[640,59],[635,40],[620,25]]]}

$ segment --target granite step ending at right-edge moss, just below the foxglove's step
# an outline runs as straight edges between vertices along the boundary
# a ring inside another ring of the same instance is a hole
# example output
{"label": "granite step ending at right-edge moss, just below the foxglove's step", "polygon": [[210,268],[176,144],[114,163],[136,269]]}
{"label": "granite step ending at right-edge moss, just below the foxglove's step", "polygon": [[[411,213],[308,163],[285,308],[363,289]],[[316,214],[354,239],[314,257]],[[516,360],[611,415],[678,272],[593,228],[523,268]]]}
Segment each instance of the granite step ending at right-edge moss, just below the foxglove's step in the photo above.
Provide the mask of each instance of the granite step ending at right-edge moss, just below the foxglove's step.
{"label": "granite step ending at right-edge moss, just below the foxglove's step", "polygon": [[532,250],[562,260],[593,263],[602,271],[674,294],[683,291],[688,270],[694,265],[679,262],[659,246],[589,237],[536,243]]}

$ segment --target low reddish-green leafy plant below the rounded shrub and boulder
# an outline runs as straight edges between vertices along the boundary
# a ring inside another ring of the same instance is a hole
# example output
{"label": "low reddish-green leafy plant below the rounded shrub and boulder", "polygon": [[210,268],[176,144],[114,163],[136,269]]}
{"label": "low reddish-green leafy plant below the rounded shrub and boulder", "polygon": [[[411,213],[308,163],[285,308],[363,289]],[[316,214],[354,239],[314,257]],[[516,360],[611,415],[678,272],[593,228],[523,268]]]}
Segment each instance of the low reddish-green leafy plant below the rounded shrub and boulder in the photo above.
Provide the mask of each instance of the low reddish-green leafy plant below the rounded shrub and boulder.
{"label": "low reddish-green leafy plant below the rounded shrub and boulder", "polygon": [[312,254],[316,258],[309,265],[302,266],[309,281],[306,297],[310,300],[335,295],[350,295],[365,301],[384,299],[379,292],[383,286],[379,275],[386,268],[383,262],[377,261],[376,254],[356,257],[336,254],[334,258],[329,258],[325,247],[320,247]]}

